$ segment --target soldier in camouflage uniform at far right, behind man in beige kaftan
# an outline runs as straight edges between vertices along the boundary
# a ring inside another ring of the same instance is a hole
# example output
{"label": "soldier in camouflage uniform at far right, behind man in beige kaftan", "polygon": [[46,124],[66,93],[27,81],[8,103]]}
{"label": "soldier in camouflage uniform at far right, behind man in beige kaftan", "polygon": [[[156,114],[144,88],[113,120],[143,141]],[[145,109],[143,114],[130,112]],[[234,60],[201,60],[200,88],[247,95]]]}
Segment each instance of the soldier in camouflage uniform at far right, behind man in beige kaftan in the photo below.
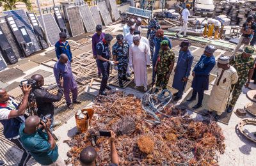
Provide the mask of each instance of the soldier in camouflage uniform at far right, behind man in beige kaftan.
{"label": "soldier in camouflage uniform at far right, behind man in beige kaftan", "polygon": [[255,59],[252,57],[254,51],[255,49],[252,46],[247,46],[245,47],[243,54],[232,56],[230,58],[231,60],[229,64],[236,68],[238,81],[231,87],[230,93],[232,92],[232,99],[229,100],[227,112],[232,112],[234,105],[236,105],[236,101],[242,92],[243,85],[246,83],[245,87],[248,87],[250,84],[250,80],[253,75],[253,66],[255,63]]}

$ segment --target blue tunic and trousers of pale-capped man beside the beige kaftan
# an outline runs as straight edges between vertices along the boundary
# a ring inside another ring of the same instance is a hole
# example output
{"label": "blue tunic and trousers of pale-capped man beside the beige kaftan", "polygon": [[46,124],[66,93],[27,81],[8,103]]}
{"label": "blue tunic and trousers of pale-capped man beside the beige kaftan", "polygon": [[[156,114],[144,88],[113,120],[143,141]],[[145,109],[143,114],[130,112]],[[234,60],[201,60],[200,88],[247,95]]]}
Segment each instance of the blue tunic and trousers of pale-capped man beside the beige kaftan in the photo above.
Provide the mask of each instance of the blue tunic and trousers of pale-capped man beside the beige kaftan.
{"label": "blue tunic and trousers of pale-capped man beside the beige kaftan", "polygon": [[196,94],[198,93],[198,103],[197,105],[202,105],[202,101],[204,98],[204,91],[209,88],[209,75],[214,68],[215,65],[215,57],[207,57],[202,55],[198,63],[196,63],[193,72],[195,72],[195,77],[192,82],[193,94],[192,97],[196,98]]}

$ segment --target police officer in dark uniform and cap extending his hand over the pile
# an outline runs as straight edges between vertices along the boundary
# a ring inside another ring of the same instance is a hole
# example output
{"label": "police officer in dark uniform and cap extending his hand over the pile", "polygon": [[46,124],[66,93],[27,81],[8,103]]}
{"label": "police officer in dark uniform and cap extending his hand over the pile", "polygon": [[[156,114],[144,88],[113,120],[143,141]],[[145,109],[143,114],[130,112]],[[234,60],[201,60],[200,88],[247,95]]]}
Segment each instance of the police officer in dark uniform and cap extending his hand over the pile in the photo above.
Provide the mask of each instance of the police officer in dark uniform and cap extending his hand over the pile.
{"label": "police officer in dark uniform and cap extending his hand over the pile", "polygon": [[111,64],[117,64],[117,62],[110,61],[110,42],[113,40],[111,34],[105,34],[104,39],[97,43],[97,58],[99,59],[99,68],[102,72],[102,79],[100,83],[100,94],[106,96],[105,89],[111,90],[111,87],[107,86],[109,77],[109,67]]}

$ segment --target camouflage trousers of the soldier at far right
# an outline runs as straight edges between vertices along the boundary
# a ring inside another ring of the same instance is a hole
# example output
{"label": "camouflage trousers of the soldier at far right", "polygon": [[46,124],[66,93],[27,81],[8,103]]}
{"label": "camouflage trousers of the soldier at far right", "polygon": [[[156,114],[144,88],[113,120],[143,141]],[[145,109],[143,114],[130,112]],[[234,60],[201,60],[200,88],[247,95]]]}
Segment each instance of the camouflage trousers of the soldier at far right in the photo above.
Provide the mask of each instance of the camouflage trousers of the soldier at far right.
{"label": "camouflage trousers of the soldier at far right", "polygon": [[244,84],[245,84],[244,81],[240,81],[237,84],[234,84],[231,86],[230,94],[232,93],[232,98],[231,98],[231,100],[229,100],[229,104],[232,105],[233,107],[234,107],[234,105],[236,105],[236,102],[237,102],[240,94],[242,93],[242,88],[243,88]]}

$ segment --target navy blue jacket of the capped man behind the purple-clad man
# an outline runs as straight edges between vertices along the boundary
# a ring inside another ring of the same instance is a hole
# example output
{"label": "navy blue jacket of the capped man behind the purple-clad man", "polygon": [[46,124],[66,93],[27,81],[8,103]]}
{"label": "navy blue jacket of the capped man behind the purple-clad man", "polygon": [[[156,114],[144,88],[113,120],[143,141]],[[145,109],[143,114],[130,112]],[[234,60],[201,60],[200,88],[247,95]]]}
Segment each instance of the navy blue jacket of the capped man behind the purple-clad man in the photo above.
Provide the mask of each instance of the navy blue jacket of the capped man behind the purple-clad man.
{"label": "navy blue jacket of the capped man behind the purple-clad man", "polygon": [[66,54],[68,60],[71,62],[72,52],[70,50],[70,45],[68,44],[68,41],[65,41],[65,44],[63,44],[61,41],[57,41],[57,43],[55,44],[55,52],[58,59],[60,59],[60,54]]}

